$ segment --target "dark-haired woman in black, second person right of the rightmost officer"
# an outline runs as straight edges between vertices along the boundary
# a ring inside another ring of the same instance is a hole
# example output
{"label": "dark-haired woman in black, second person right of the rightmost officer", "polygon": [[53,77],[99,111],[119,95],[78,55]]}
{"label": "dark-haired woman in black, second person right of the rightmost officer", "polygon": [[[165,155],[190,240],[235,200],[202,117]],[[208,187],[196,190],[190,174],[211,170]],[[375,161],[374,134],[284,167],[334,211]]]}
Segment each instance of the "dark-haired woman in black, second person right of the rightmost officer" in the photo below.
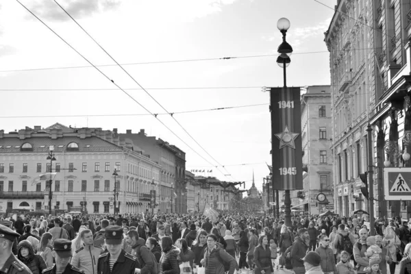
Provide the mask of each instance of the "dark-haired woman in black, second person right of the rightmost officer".
{"label": "dark-haired woman in black, second person right of the rightmost officer", "polygon": [[161,239],[162,256],[160,258],[160,273],[179,274],[179,265],[177,256],[180,250],[173,246],[173,239],[170,236],[164,236]]}

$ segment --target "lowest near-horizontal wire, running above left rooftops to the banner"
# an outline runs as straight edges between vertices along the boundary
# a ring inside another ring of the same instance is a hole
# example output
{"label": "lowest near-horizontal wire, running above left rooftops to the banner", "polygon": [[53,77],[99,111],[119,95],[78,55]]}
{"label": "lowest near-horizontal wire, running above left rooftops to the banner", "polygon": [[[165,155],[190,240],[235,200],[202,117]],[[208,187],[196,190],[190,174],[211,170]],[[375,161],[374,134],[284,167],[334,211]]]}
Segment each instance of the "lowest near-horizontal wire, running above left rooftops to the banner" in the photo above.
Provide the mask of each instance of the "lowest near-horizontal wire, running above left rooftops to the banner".
{"label": "lowest near-horizontal wire, running above left rooftops to the banner", "polygon": [[[208,108],[205,110],[187,110],[182,112],[171,112],[171,113],[155,113],[154,115],[170,115],[170,114],[186,114],[186,113],[195,113],[195,112],[208,112],[215,110],[232,110],[234,108],[249,108],[256,107],[260,105],[269,105],[269,103],[258,103],[255,105],[236,105],[232,107],[224,108]],[[8,118],[53,118],[53,117],[111,117],[111,116],[151,116],[152,114],[140,113],[140,114],[76,114],[76,115],[42,115],[42,116],[0,116],[0,119]]]}

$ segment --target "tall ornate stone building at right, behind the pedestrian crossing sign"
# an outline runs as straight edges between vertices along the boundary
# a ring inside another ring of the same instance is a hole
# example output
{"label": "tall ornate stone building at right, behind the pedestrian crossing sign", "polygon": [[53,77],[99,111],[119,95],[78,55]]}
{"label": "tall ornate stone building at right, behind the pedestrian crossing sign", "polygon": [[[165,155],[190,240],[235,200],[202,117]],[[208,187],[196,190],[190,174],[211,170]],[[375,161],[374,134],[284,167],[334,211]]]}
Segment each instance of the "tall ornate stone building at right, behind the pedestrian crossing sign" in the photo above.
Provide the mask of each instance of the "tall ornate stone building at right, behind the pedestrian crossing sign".
{"label": "tall ornate stone building at right, behind the pedestrian crossing sign", "polygon": [[[384,199],[384,168],[401,161],[409,138],[410,1],[338,1],[325,33],[330,51],[336,208],[369,210],[359,175],[373,166],[376,216],[409,216],[409,201]],[[408,112],[409,113],[409,112]],[[371,125],[371,138],[367,136]],[[367,149],[371,142],[372,149]],[[372,153],[373,162],[368,156]],[[385,166],[384,166],[385,162]]]}

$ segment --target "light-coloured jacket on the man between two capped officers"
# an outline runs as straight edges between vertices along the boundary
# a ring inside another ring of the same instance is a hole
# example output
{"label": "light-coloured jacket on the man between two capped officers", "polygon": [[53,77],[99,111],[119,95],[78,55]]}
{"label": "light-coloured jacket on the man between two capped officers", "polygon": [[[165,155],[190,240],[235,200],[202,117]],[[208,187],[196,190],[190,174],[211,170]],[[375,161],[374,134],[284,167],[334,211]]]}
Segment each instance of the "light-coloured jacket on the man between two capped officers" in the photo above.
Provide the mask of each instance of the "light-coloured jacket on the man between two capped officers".
{"label": "light-coloured jacket on the man between two capped officers", "polygon": [[85,274],[96,274],[97,262],[102,252],[103,249],[101,247],[84,245],[75,251],[71,259],[71,265],[77,267],[77,269],[82,269]]}

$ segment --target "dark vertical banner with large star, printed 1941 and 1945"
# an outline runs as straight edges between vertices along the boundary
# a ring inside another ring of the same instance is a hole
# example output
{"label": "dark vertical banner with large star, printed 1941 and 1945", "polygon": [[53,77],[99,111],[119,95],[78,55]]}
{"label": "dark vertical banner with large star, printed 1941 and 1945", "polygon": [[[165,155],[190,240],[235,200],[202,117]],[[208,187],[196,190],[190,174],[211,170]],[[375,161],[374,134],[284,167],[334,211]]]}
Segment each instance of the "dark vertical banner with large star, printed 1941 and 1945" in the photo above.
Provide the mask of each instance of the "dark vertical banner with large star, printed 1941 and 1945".
{"label": "dark vertical banner with large star, printed 1941 and 1945", "polygon": [[303,189],[300,88],[271,88],[274,190]]}

